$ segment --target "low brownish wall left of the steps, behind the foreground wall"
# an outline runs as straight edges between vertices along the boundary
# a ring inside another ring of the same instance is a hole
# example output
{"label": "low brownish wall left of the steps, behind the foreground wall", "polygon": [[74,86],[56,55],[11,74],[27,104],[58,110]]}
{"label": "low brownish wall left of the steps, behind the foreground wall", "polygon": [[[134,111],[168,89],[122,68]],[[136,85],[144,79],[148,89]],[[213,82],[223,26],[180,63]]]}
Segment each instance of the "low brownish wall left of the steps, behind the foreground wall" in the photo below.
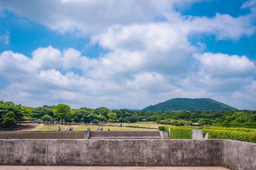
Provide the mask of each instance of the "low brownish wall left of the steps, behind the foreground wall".
{"label": "low brownish wall left of the steps, behind the foreground wall", "polygon": [[85,131],[0,133],[0,139],[85,139]]}

